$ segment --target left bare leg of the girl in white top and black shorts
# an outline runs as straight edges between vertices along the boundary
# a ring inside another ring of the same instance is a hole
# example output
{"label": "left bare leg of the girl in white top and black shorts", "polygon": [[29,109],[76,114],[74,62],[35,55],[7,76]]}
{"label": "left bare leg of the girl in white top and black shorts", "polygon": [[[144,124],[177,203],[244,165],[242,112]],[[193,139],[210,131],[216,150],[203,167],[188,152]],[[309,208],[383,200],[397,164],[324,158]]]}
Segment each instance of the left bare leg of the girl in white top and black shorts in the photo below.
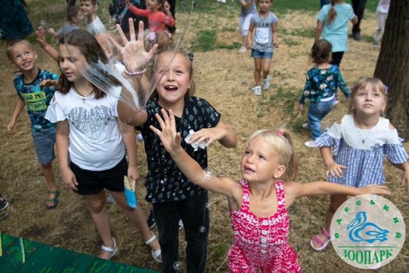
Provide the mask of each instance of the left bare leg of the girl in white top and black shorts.
{"label": "left bare leg of the girl in white top and black shorts", "polygon": [[[95,227],[99,236],[101,237],[102,243],[107,247],[113,248],[113,241],[109,225],[108,211],[105,205],[105,198],[105,191],[101,191],[98,194],[85,196],[85,199],[89,204],[91,217],[93,218]],[[101,259],[108,259],[110,255],[110,252],[102,250],[98,257]]]}

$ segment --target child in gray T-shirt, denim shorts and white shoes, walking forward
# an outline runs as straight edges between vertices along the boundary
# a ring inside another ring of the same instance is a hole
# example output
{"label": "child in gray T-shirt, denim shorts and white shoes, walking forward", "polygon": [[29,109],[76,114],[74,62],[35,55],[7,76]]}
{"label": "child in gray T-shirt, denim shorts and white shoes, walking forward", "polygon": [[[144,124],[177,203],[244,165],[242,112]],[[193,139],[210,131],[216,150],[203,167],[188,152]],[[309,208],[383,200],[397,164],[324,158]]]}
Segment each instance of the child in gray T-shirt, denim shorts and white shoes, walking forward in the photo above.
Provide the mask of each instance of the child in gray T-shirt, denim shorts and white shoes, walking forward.
{"label": "child in gray T-shirt, denim shorts and white shoes, walking forward", "polygon": [[272,53],[275,48],[278,48],[278,17],[270,12],[271,4],[271,0],[257,0],[258,12],[250,20],[250,29],[247,35],[247,47],[252,49],[251,56],[254,58],[256,86],[253,91],[256,96],[262,93],[261,68],[263,68],[263,89],[270,87],[268,74],[270,73]]}

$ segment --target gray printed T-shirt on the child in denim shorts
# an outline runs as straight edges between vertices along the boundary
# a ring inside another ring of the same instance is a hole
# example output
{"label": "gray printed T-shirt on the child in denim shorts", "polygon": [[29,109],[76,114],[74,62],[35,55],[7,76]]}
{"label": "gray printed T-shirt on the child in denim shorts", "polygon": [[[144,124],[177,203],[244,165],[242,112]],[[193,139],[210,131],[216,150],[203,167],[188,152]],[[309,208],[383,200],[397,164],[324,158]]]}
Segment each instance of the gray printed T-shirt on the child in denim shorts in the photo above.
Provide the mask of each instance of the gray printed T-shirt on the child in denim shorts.
{"label": "gray printed T-shirt on the child in denim shorts", "polygon": [[272,25],[278,22],[278,17],[271,12],[267,16],[261,17],[256,12],[250,22],[254,24],[253,49],[261,52],[274,52]]}

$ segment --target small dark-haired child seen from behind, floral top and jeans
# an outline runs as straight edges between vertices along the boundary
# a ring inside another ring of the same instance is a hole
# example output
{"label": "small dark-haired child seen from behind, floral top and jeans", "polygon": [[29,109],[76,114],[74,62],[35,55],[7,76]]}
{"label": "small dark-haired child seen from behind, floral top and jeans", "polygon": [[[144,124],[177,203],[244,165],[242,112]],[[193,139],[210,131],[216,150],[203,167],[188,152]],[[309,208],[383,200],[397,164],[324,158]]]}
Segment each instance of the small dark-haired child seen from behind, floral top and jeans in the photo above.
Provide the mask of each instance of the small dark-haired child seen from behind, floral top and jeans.
{"label": "small dark-haired child seen from behind, floral top and jeans", "polygon": [[338,66],[330,65],[332,45],[327,40],[317,40],[312,46],[310,60],[315,64],[307,72],[304,91],[298,104],[298,111],[303,110],[306,98],[309,98],[308,123],[303,128],[311,129],[312,139],[304,144],[308,148],[317,147],[314,140],[321,136],[321,121],[334,106],[336,89],[339,87],[349,97],[349,89],[341,76]]}

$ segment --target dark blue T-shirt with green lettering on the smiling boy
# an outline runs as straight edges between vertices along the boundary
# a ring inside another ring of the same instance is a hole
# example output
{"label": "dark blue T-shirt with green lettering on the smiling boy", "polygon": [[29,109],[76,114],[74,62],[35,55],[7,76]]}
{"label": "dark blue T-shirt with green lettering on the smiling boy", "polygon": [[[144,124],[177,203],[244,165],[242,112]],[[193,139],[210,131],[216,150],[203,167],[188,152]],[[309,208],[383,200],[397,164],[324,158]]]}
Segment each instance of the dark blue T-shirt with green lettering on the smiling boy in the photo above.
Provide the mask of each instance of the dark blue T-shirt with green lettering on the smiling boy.
{"label": "dark blue T-shirt with green lettering on the smiling boy", "polygon": [[55,123],[44,118],[50,101],[54,96],[54,87],[40,87],[39,83],[45,79],[58,78],[57,74],[39,69],[38,75],[33,82],[24,83],[23,75],[18,75],[13,80],[17,95],[21,96],[27,104],[27,112],[31,120],[31,130],[35,132],[48,132],[56,126]]}

